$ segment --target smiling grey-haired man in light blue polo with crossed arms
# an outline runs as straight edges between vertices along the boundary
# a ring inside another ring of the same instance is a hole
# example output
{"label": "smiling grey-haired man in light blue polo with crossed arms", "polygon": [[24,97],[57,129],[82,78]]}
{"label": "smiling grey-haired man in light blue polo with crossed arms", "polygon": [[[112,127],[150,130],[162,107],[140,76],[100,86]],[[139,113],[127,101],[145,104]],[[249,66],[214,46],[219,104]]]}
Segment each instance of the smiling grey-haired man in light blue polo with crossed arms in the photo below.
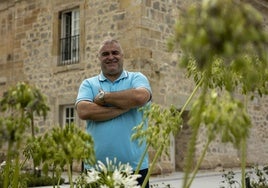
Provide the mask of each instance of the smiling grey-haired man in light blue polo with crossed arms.
{"label": "smiling grey-haired man in light blue polo with crossed arms", "polygon": [[[87,121],[87,131],[92,135],[97,160],[105,163],[114,158],[133,169],[141,159],[146,144],[132,141],[133,127],[143,121],[140,107],[151,100],[148,79],[140,72],[123,69],[124,55],[117,40],[105,40],[98,52],[101,73],[85,79],[76,99],[78,116]],[[147,127],[147,123],[145,128]],[[142,162],[138,179],[142,185],[149,166],[148,154]],[[85,165],[85,168],[89,166]],[[147,186],[149,188],[149,183]]]}

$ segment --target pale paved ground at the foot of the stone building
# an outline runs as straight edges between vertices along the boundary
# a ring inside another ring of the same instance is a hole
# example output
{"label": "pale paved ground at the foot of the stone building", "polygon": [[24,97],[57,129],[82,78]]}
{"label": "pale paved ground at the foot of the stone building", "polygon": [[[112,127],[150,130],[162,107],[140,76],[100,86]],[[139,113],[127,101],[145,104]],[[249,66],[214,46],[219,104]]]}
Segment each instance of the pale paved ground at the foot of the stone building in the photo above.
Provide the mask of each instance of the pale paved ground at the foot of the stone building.
{"label": "pale paved ground at the foot of the stone building", "polygon": [[[240,173],[236,173],[236,179],[240,178]],[[223,172],[215,172],[215,171],[201,171],[197,174],[195,180],[193,181],[191,188],[220,188],[221,185],[226,184],[221,183],[224,179],[222,178]],[[65,180],[68,180],[67,177],[64,177]],[[75,179],[75,177],[74,177]],[[151,188],[181,188],[183,183],[183,173],[182,172],[174,172],[167,175],[161,176],[152,176],[150,178],[150,187]],[[42,188],[51,188],[42,187]],[[69,188],[68,184],[61,185],[61,188]],[[40,187],[39,187],[40,188]]]}

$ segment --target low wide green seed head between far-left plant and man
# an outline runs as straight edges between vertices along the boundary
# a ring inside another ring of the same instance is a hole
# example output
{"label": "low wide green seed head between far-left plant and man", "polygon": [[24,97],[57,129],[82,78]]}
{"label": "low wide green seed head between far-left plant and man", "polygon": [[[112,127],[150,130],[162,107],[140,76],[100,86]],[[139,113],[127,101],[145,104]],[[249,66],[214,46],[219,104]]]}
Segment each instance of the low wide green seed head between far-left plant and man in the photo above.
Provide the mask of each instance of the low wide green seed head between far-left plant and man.
{"label": "low wide green seed head between far-left plant and man", "polygon": [[[74,187],[71,166],[74,161],[95,161],[92,137],[74,124],[64,128],[54,127],[45,135],[28,141],[26,155],[32,156],[36,164],[42,165],[45,174],[52,170],[53,177],[60,180],[64,167],[67,168],[70,187]],[[52,168],[52,169],[50,169]]]}

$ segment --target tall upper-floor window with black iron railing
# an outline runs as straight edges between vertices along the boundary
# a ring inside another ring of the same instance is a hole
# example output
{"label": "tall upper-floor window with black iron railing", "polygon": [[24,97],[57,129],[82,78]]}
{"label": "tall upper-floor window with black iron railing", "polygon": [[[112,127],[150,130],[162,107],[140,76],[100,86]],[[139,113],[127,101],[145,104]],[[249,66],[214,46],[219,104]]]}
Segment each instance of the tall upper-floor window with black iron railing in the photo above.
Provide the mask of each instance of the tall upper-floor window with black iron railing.
{"label": "tall upper-floor window with black iron railing", "polygon": [[61,13],[59,65],[79,62],[79,9]]}

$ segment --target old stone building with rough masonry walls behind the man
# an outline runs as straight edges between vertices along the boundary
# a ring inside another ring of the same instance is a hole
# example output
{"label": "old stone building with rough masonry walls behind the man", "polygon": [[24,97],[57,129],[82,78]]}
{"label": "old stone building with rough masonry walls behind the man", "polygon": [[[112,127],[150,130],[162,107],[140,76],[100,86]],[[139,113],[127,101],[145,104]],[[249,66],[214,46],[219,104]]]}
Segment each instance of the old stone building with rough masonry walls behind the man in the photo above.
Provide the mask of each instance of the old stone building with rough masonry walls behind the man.
{"label": "old stone building with rough masonry walls behind the man", "polygon": [[[249,0],[250,1],[250,0]],[[84,78],[100,72],[96,51],[107,36],[120,40],[125,68],[148,76],[153,100],[180,108],[193,90],[167,50],[178,12],[197,0],[1,0],[0,95],[25,81],[48,98],[51,111],[40,132],[76,122],[74,101]],[[251,1],[250,1],[251,2]],[[251,2],[268,24],[265,0]],[[268,98],[249,104],[254,127],[248,141],[248,164],[268,162]],[[187,126],[186,126],[187,127]],[[181,170],[190,134],[172,138],[170,157],[163,157],[158,173]],[[202,147],[202,137],[197,148]],[[197,150],[198,151],[198,150]],[[198,153],[196,154],[198,156]],[[230,145],[215,142],[202,168],[238,166],[239,154]]]}

